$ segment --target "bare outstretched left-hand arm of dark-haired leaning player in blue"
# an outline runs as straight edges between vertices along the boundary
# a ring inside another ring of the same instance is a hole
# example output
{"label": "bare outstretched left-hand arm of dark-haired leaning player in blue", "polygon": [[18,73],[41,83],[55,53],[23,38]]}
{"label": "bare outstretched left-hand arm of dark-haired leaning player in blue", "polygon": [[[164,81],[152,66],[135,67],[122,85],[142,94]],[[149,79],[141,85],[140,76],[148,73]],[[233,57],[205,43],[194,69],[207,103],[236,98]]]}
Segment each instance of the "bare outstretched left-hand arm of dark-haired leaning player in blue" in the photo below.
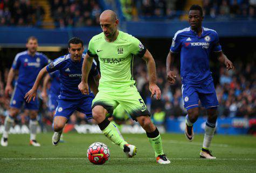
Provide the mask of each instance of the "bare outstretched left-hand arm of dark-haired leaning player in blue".
{"label": "bare outstretched left-hand arm of dark-haired leaning player in blue", "polygon": [[38,89],[38,86],[40,84],[40,81],[42,80],[44,75],[47,73],[46,67],[47,66],[45,66],[43,69],[40,70],[39,74],[37,75],[37,79],[34,82],[34,85],[33,85],[32,89],[29,90],[29,92],[26,93],[24,98],[26,99],[27,103],[29,103],[32,98],[33,98],[33,100],[36,99],[37,89]]}

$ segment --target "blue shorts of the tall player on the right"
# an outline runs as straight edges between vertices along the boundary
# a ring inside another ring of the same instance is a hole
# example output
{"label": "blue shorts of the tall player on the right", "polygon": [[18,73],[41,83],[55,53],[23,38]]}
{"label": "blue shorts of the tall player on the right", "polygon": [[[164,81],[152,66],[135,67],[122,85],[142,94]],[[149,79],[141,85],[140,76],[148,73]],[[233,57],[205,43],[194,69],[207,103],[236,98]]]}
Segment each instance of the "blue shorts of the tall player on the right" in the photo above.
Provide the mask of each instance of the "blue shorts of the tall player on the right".
{"label": "blue shorts of the tall player on the right", "polygon": [[212,78],[198,85],[183,84],[182,96],[186,110],[192,109],[193,107],[198,107],[199,100],[202,106],[206,109],[219,106]]}

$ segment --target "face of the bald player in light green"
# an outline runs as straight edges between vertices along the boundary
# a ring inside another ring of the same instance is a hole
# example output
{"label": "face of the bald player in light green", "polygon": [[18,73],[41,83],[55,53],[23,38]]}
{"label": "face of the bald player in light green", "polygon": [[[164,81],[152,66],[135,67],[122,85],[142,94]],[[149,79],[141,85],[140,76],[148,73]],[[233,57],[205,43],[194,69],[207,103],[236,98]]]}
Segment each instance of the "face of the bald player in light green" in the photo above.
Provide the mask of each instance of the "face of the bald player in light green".
{"label": "face of the bald player in light green", "polygon": [[115,32],[117,31],[117,25],[119,20],[113,20],[109,17],[100,18],[100,27],[107,38],[113,38]]}

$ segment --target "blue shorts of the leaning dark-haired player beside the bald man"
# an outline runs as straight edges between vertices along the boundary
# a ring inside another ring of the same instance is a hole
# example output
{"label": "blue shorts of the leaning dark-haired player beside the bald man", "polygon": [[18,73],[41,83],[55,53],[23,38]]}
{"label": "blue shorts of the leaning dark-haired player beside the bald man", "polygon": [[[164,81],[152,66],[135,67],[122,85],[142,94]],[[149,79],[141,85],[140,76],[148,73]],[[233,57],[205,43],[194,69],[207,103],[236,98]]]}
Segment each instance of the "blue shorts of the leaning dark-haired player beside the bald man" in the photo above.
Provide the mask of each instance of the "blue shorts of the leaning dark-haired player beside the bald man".
{"label": "blue shorts of the leaning dark-haired player beside the bald man", "polygon": [[94,97],[86,97],[81,99],[58,99],[58,107],[54,117],[61,116],[68,120],[74,111],[84,113],[87,119],[92,119],[92,101]]}

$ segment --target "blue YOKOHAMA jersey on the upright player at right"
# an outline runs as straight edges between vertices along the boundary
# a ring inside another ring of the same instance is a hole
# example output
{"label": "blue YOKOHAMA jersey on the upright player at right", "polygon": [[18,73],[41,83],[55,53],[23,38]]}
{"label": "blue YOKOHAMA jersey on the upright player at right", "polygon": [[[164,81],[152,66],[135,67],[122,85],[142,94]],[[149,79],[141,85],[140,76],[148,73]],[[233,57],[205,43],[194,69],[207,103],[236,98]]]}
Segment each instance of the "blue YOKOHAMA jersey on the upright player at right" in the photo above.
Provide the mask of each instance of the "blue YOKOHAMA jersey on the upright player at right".
{"label": "blue YOKOHAMA jersey on the upright player at right", "polygon": [[220,52],[216,31],[202,28],[199,37],[190,27],[175,33],[170,51],[181,53],[181,77],[183,84],[198,84],[211,77],[209,58],[211,52]]}

